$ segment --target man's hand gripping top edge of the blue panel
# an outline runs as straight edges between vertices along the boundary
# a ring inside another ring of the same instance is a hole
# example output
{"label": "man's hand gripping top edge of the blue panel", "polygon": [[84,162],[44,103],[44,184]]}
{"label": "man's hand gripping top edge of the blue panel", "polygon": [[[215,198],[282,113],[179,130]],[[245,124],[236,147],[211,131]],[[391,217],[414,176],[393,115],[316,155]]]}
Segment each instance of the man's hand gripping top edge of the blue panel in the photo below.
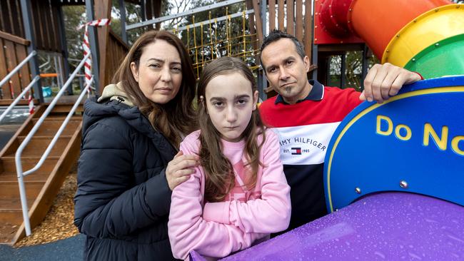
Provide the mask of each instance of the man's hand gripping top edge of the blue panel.
{"label": "man's hand gripping top edge of the blue panel", "polygon": [[414,83],[420,79],[418,73],[394,66],[391,63],[375,64],[365,76],[364,91],[360,94],[359,99],[383,103],[391,96],[395,96],[404,84]]}

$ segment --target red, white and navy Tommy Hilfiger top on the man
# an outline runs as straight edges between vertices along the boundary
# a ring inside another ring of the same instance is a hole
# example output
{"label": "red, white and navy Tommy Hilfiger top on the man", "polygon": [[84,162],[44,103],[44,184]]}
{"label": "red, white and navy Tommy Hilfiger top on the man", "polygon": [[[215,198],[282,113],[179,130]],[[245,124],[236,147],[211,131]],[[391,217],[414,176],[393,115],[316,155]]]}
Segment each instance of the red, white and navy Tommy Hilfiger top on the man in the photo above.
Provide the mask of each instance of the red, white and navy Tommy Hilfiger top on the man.
{"label": "red, white and navy Tommy Hilfiger top on the man", "polygon": [[360,93],[352,88],[309,83],[310,93],[295,104],[275,96],[259,106],[261,118],[278,134],[281,145],[283,170],[291,186],[289,229],[326,215],[323,163],[328,143],[343,118],[360,103]]}

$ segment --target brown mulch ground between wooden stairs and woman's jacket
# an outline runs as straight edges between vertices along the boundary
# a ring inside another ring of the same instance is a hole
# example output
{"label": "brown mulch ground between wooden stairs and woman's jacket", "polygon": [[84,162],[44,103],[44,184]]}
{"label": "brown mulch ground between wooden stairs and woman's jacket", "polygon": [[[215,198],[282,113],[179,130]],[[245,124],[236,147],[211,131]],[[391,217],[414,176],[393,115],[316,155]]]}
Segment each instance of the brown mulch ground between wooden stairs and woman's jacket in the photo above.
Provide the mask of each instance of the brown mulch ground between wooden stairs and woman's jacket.
{"label": "brown mulch ground between wooden stairs and woman's jacket", "polygon": [[61,185],[54,204],[51,206],[44,221],[32,230],[31,236],[24,237],[14,247],[39,245],[79,234],[79,231],[73,224],[73,198],[77,188],[76,176],[77,170],[76,166],[74,166],[66,177],[66,180],[64,180],[63,185]]}

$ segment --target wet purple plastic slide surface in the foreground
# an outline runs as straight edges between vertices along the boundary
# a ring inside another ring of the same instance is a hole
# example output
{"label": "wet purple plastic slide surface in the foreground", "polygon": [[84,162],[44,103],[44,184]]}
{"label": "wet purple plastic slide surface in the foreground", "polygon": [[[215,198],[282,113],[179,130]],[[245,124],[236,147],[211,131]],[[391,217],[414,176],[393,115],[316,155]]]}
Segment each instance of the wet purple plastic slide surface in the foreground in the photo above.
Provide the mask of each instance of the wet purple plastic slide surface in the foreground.
{"label": "wet purple plastic slide surface in the foreground", "polygon": [[464,260],[464,208],[414,193],[368,195],[222,260]]}

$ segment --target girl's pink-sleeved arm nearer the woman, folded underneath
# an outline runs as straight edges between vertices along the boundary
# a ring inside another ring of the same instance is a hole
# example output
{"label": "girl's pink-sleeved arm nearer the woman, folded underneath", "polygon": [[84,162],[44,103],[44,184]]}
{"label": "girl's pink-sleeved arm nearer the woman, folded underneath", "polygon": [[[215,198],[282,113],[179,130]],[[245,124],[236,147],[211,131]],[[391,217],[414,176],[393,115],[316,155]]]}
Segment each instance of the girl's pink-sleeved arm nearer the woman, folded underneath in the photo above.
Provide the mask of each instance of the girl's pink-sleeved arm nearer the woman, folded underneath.
{"label": "girl's pink-sleeved arm nearer the woman, folded underneath", "polygon": [[[187,139],[187,138],[186,138]],[[185,155],[193,154],[184,142],[181,150]],[[173,256],[185,260],[191,250],[209,257],[225,257],[231,252],[250,247],[251,243],[264,235],[246,233],[234,225],[203,220],[202,174],[196,173],[174,188],[171,197],[168,232]]]}

